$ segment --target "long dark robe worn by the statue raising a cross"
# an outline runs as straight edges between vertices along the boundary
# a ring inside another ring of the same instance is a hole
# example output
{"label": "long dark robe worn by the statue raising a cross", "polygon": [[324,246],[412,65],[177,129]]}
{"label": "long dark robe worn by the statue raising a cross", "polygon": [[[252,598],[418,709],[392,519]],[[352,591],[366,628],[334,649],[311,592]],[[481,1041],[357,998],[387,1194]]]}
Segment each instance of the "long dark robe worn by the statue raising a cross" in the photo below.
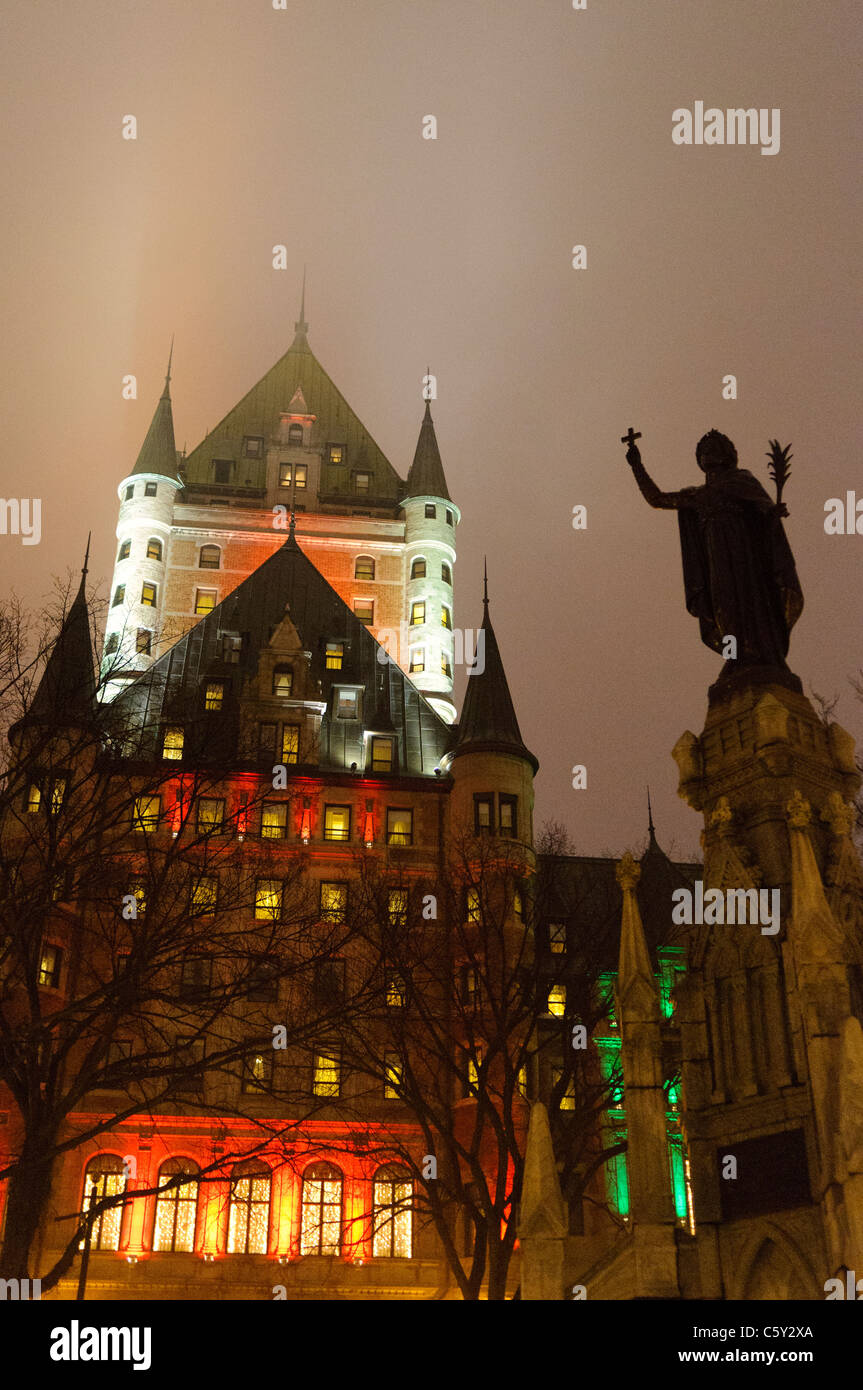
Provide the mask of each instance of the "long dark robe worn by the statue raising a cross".
{"label": "long dark robe worn by the statue raising a cross", "polygon": [[675,496],[687,609],[702,641],[721,653],[735,637],[738,666],[785,666],[803,594],[773,499],[745,468]]}

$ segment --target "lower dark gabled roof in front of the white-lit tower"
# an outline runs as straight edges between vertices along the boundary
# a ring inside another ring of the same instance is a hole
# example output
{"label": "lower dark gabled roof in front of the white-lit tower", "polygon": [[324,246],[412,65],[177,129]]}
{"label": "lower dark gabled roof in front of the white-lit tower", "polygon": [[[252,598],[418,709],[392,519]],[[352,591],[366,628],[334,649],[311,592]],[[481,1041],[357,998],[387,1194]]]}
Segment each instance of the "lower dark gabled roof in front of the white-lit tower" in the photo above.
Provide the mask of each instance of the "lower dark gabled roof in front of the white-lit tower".
{"label": "lower dark gabled roof in front of the white-lit tower", "polygon": [[[310,653],[311,698],[325,705],[320,770],[347,771],[356,763],[361,771],[364,734],[384,733],[385,714],[397,739],[397,771],[434,777],[449,726],[303,555],[293,535],[117,696],[111,708],[121,727],[131,723],[136,730],[136,755],[156,756],[158,730],[167,721],[183,724],[192,759],[197,751],[203,762],[236,760],[245,688],[286,614]],[[239,660],[229,664],[225,646],[235,641]],[[342,644],[339,670],[327,666],[328,642]],[[204,682],[217,678],[225,682],[224,706],[204,714]],[[334,717],[338,685],[361,688],[359,721]]]}

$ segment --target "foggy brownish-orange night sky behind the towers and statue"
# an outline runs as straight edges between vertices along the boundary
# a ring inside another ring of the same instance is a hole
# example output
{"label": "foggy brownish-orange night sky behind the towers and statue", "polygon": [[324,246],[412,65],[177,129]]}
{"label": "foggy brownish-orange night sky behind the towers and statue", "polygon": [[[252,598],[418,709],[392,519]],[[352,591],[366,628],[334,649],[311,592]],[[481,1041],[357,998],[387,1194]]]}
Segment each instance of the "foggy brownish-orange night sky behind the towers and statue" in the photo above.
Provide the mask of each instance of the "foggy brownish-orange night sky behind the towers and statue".
{"label": "foggy brownish-orange night sky behind the towers and statue", "polygon": [[[681,488],[723,430],[771,495],[767,442],[791,441],[789,664],[860,737],[863,537],[824,534],[828,498],[863,496],[855,19],[845,0],[7,8],[3,496],[40,496],[43,520],[38,546],[0,537],[6,585],[39,603],[92,527],[104,594],[171,335],[192,449],[290,345],[307,263],[311,348],[402,477],[427,363],[438,378],[454,621],[481,621],[486,553],[536,826],[638,848],[649,783],[660,844],[693,852],[670,749],[700,733],[721,662],[684,607],[677,520],[618,439],[641,430]],[[780,153],[673,145],[696,100],[780,107]]]}

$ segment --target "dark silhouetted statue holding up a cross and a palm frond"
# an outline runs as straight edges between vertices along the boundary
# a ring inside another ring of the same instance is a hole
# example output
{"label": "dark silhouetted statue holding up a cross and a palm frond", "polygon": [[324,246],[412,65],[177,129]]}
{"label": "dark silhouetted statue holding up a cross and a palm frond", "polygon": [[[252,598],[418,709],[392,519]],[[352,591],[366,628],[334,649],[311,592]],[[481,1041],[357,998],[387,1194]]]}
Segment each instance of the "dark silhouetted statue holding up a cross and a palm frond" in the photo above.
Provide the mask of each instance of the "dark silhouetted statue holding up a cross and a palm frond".
{"label": "dark silhouetted statue holding up a cross and a palm frond", "polygon": [[[781,500],[788,477],[788,449],[771,442],[771,475],[778,500],[762,484],[738,468],[737,449],[712,430],[695,450],[706,474],[700,488],[660,492],[641,461],[632,430],[627,463],[652,507],[677,512],[684,560],[687,609],[699,620],[702,642],[725,657],[720,681],[748,667],[759,678],[788,671],[785,657],[791,628],[803,609],[803,594],[785,537]],[[734,644],[728,638],[735,638]]]}

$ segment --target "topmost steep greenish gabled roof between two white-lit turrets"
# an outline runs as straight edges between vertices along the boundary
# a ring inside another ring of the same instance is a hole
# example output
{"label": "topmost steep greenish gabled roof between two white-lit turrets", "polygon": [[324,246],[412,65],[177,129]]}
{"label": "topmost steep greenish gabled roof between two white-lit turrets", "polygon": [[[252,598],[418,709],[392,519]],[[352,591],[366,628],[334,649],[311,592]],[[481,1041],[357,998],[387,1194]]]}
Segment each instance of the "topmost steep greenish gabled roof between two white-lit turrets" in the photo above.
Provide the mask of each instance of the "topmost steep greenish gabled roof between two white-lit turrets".
{"label": "topmost steep greenish gabled roof between two white-lit turrets", "polygon": [[189,453],[183,464],[186,482],[190,486],[207,486],[211,481],[211,460],[232,459],[238,463],[242,460],[236,480],[240,489],[245,485],[264,488],[265,460],[245,459],[243,438],[278,438],[282,413],[299,413],[296,402],[302,400],[302,413],[317,417],[311,427],[311,442],[345,446],[346,461],[340,470],[324,464],[321,492],[350,492],[350,470],[360,468],[371,474],[368,496],[392,499],[395,505],[404,491],[402,478],[321,367],[309,346],[306,328],[307,324],[300,317],[288,352]]}

